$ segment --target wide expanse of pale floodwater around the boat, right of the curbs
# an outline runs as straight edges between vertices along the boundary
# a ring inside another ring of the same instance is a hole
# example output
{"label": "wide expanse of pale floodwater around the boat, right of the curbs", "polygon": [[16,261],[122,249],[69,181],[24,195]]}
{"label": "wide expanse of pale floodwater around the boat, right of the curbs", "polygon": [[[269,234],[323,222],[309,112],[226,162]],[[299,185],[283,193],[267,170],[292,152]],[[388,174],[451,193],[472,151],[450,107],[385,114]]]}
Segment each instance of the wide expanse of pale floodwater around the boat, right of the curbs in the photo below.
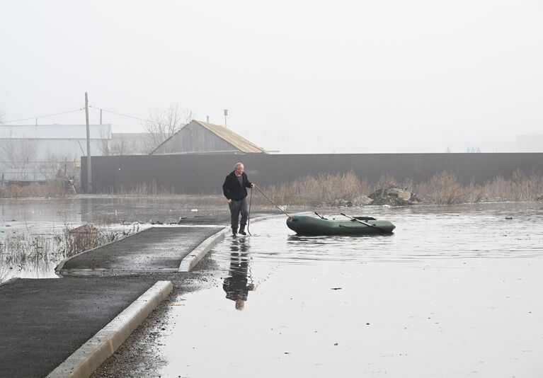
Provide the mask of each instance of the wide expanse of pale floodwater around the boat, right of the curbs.
{"label": "wide expanse of pale floodwater around the boat, right of the curbs", "polygon": [[542,203],[354,211],[394,235],[278,218],[225,239],[217,285],[169,309],[157,375],[543,377]]}

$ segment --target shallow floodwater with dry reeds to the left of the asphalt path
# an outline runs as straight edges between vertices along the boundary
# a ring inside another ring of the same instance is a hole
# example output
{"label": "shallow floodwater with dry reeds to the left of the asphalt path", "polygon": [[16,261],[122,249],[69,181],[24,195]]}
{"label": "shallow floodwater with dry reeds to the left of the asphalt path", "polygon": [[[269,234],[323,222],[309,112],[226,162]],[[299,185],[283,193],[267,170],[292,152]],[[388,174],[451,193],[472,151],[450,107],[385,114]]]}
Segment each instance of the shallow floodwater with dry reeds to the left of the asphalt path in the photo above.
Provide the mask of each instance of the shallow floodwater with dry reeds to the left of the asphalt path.
{"label": "shallow floodwater with dry reeds to the left of the asphalt path", "polygon": [[[93,223],[105,232],[142,231],[151,222],[176,223],[179,217],[198,222],[195,217],[209,219],[221,212],[197,209],[190,202],[182,196],[0,199],[0,282],[57,277],[55,267],[67,256],[57,253],[54,239],[65,228]],[[31,245],[38,241],[33,251]]]}

